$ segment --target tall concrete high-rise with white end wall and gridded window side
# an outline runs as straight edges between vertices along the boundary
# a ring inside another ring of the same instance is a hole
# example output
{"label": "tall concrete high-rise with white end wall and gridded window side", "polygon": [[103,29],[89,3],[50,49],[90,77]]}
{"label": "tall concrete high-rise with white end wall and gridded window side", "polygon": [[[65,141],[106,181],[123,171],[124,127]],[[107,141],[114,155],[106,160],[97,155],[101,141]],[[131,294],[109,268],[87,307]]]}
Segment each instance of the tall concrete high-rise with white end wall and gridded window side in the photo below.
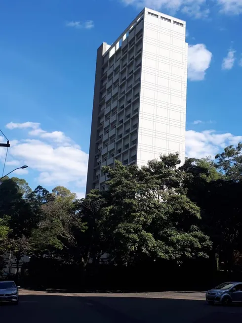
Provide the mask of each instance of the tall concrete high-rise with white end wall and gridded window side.
{"label": "tall concrete high-rise with white end wall and gridded window side", "polygon": [[186,23],[144,8],[97,50],[86,192],[106,189],[102,166],[185,158]]}

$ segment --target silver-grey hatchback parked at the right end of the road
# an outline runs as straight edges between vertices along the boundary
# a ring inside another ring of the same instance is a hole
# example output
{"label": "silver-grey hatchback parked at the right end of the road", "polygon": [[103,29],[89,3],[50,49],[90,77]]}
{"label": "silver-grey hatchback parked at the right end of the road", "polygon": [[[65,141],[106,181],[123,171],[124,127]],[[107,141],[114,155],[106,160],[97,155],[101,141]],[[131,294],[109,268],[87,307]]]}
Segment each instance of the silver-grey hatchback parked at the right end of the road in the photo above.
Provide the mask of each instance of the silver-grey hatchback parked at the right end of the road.
{"label": "silver-grey hatchback parked at the right end of the road", "polygon": [[223,282],[217,287],[206,292],[206,301],[210,305],[213,305],[214,303],[220,303],[223,305],[242,303],[242,282]]}

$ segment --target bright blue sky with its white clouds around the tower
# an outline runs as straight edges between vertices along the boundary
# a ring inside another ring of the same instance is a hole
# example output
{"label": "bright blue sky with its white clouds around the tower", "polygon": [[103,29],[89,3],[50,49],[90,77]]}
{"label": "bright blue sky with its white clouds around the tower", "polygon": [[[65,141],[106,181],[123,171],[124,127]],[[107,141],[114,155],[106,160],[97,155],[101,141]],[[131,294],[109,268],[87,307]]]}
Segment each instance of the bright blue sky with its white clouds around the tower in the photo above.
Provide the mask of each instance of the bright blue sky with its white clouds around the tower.
{"label": "bright blue sky with its white clouds around the tower", "polygon": [[60,184],[83,195],[96,49],[144,6],[187,22],[187,155],[242,141],[242,0],[2,0],[0,128],[11,142],[4,173],[28,164],[14,174],[33,188]]}

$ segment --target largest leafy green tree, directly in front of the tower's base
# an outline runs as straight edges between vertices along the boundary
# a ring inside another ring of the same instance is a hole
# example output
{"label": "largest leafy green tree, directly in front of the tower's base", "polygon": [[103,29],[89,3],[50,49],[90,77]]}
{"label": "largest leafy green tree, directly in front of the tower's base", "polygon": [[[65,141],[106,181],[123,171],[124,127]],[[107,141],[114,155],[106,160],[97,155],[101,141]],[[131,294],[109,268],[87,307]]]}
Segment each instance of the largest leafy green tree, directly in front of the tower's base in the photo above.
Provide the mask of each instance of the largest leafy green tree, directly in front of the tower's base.
{"label": "largest leafy green tree, directly in front of the tower's base", "polygon": [[211,242],[200,228],[200,208],[186,195],[179,163],[178,155],[170,154],[141,169],[120,162],[103,168],[110,178],[102,211],[107,252],[115,262],[207,257]]}

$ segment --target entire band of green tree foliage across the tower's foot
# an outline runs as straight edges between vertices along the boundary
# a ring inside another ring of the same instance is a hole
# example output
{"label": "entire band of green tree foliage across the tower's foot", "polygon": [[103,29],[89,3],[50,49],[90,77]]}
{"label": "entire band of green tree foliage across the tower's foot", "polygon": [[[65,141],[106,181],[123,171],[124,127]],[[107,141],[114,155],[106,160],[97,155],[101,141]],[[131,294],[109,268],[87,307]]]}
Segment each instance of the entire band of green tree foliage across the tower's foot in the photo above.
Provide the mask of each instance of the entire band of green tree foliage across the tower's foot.
{"label": "entire band of green tree foliage across the tower's foot", "polygon": [[[103,167],[108,189],[78,200],[63,186],[0,185],[0,254],[63,264],[105,257],[118,266],[216,258],[242,268],[242,144],[210,157],[161,156],[146,166]],[[179,167],[180,166],[180,167]],[[218,267],[218,266],[217,266]]]}

